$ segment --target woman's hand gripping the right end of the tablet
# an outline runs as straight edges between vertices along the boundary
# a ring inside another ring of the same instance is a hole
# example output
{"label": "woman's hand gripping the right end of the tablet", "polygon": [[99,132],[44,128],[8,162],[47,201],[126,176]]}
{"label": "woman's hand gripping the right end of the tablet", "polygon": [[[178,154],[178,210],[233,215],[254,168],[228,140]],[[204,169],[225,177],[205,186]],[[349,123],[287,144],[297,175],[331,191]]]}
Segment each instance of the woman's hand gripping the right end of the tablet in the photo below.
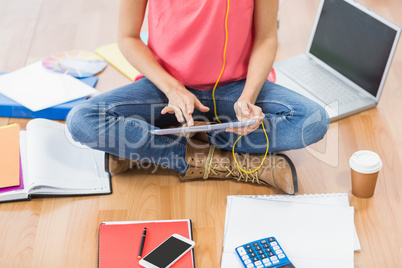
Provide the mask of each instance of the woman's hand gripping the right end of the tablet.
{"label": "woman's hand gripping the right end of the tablet", "polygon": [[256,122],[248,127],[239,127],[239,128],[228,128],[227,132],[233,132],[238,135],[247,135],[254,130],[258,129],[262,123],[262,120],[265,117],[265,114],[262,112],[262,109],[255,104],[252,104],[248,100],[238,100],[234,104],[234,110],[236,112],[236,117],[239,121],[246,120],[255,120]]}

